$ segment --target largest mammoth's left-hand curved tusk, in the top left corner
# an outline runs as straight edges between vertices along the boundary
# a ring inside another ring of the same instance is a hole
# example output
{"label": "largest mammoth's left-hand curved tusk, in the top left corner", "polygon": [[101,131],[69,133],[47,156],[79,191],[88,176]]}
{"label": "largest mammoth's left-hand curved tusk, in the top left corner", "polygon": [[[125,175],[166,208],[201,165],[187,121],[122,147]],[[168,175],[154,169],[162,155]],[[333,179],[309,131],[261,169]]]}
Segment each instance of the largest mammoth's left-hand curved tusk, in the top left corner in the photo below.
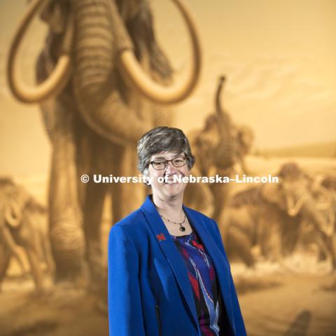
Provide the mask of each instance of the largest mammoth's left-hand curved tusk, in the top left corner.
{"label": "largest mammoth's left-hand curved tusk, in the top left corner", "polygon": [[31,20],[34,18],[34,15],[36,15],[37,11],[41,8],[42,4],[45,4],[45,2],[45,0],[34,0],[29,3],[27,11],[15,31],[8,54],[8,85],[13,96],[24,103],[31,104],[41,102],[44,99],[57,95],[69,80],[71,71],[71,57],[69,52],[73,41],[73,18],[71,15],[69,16],[68,27],[66,27],[66,32],[64,34],[61,55],[50,76],[45,79],[43,83],[35,87],[29,87],[20,80],[20,76],[18,76],[16,71],[16,59],[22,38],[25,36],[25,32],[27,31]]}

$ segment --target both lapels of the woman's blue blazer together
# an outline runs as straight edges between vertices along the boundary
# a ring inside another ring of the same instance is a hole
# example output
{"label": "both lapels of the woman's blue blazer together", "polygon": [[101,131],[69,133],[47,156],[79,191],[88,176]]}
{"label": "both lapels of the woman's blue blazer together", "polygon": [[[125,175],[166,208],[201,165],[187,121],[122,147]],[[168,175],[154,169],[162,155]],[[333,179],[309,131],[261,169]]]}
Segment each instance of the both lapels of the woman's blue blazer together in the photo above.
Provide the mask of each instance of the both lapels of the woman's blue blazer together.
{"label": "both lapels of the woman's blue blazer together", "polygon": [[[190,280],[186,271],[186,265],[184,264],[183,258],[177,250],[174,241],[166,228],[165,223],[163,223],[158,213],[158,210],[155,207],[155,204],[153,204],[153,202],[151,201],[151,195],[148,195],[146,197],[146,200],[144,204],[141,205],[140,209],[141,211],[143,211],[148,225],[150,226],[153,235],[155,236],[163,254],[167,258],[169,265],[172,267],[179,286],[181,287],[182,293],[186,298],[186,302],[188,303],[188,307],[193,316],[195,325],[200,332],[200,326],[195,307],[195,300],[193,297],[193,289],[190,285]],[[218,249],[216,244],[214,244],[214,239],[212,239],[211,235],[209,235],[209,232],[206,229],[207,223],[202,221],[202,218],[200,216],[197,216],[197,213],[195,213],[188,207],[185,207],[184,205],[183,210],[188,216],[190,225],[197,233],[197,236],[202,241],[204,248],[206,249],[207,253],[209,253],[211,260],[214,263],[218,282],[220,283],[221,287],[223,301],[225,303],[225,308],[230,321],[232,321],[233,308],[230,293],[230,272],[228,268],[228,262],[226,262],[223,253]]]}

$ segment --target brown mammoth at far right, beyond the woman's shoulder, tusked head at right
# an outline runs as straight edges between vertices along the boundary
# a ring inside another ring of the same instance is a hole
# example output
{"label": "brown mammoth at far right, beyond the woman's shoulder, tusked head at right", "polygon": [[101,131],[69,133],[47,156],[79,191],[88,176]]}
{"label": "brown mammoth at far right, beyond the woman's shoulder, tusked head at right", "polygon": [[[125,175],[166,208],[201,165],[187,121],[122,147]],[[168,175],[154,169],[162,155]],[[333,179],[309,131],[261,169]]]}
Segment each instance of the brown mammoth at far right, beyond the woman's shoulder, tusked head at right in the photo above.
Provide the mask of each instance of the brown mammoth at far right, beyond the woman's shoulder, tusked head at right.
{"label": "brown mammoth at far right, beyond the woman's shoulder, tusked head at right", "polygon": [[279,184],[255,186],[237,193],[220,220],[228,254],[239,255],[248,266],[255,264],[253,246],[259,246],[263,256],[278,262],[283,255],[293,252],[304,218],[314,225],[315,237],[327,239],[332,235],[330,223],[323,216],[330,204],[325,189],[314,185],[294,163],[283,165],[277,175]]}

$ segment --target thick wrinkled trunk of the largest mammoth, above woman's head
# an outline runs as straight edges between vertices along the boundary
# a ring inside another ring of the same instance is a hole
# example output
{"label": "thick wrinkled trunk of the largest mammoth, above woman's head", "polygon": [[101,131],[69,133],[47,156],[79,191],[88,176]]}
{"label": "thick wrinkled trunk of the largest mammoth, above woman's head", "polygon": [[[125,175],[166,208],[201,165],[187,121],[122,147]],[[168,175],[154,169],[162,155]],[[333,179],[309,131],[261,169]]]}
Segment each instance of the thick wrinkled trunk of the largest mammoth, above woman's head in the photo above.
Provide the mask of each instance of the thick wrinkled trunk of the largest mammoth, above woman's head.
{"label": "thick wrinkled trunk of the largest mammoth, above woman's head", "polygon": [[80,114],[92,130],[114,143],[136,141],[150,127],[120,92],[120,50],[132,49],[124,22],[111,0],[73,1],[76,36],[74,81]]}

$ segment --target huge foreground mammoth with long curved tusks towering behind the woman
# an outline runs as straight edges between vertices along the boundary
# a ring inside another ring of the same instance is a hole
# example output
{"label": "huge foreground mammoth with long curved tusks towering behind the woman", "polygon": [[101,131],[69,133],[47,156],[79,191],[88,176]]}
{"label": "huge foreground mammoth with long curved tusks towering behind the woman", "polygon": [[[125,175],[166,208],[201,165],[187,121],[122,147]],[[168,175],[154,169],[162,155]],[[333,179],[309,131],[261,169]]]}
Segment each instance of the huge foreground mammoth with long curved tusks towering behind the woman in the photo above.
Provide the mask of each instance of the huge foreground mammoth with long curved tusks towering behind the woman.
{"label": "huge foreground mammoth with long curved tusks towering behind the woman", "polygon": [[[49,34],[36,64],[39,85],[31,88],[15,73],[15,59],[41,3]],[[186,7],[174,3],[192,47],[190,71],[179,83],[155,38],[148,1],[31,1],[15,34],[10,89],[21,102],[40,102],[52,144],[48,208],[56,280],[90,275],[92,284],[104,283],[100,223],[106,192],[112,196],[113,222],[144,197],[144,186],[92,179],[85,184],[80,176],[137,175],[136,141],[152,127],[172,123],[166,106],[188,97],[197,83],[201,54],[195,25]]]}

